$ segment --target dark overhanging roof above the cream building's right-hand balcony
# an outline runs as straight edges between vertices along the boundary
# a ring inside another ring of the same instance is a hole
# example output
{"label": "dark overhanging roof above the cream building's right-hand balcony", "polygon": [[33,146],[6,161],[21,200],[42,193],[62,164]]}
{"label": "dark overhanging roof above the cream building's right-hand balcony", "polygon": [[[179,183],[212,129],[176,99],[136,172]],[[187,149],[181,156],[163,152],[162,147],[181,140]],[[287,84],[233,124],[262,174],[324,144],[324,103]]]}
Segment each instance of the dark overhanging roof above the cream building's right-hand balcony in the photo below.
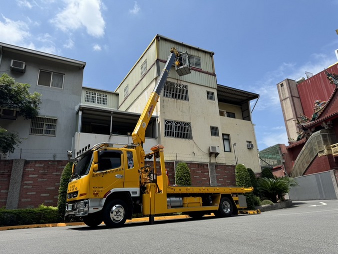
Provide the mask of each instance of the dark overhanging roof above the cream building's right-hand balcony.
{"label": "dark overhanging roof above the cream building's right-hand balcony", "polygon": [[219,102],[241,105],[259,98],[259,94],[217,84],[217,97]]}

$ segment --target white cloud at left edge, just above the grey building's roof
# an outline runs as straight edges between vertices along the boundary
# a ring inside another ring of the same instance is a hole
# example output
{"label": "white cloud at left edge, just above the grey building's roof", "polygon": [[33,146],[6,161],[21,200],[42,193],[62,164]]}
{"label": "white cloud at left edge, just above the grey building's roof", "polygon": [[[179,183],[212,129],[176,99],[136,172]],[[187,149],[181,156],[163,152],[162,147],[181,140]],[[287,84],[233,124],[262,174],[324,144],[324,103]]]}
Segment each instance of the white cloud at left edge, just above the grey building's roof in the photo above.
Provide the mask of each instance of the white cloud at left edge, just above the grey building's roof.
{"label": "white cloud at left edge, just above the grey building's roof", "polygon": [[0,21],[0,41],[8,44],[24,46],[31,36],[28,25],[21,21],[13,21],[2,15],[4,22]]}

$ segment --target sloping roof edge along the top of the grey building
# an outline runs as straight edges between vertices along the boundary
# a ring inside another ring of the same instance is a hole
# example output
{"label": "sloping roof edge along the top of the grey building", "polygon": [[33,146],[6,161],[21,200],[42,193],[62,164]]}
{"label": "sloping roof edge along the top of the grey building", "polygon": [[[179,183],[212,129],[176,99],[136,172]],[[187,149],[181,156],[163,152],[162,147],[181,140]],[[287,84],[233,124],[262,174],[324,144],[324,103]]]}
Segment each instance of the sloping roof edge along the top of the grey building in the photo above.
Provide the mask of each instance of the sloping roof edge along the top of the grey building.
{"label": "sloping roof edge along the top of the grey building", "polygon": [[10,45],[10,44],[0,42],[1,52],[4,49],[8,50],[8,51],[13,51],[13,52],[20,51],[21,54],[32,55],[32,56],[35,56],[35,57],[48,59],[48,60],[50,60],[50,58],[52,58],[54,61],[79,66],[80,68],[84,68],[84,66],[86,65],[86,62],[84,62],[84,61],[78,61],[78,60],[70,59],[70,58],[67,58],[67,57],[58,56],[58,55],[55,55],[55,54],[49,54],[49,53],[40,52],[40,51],[29,49],[29,48],[14,46],[14,45]]}

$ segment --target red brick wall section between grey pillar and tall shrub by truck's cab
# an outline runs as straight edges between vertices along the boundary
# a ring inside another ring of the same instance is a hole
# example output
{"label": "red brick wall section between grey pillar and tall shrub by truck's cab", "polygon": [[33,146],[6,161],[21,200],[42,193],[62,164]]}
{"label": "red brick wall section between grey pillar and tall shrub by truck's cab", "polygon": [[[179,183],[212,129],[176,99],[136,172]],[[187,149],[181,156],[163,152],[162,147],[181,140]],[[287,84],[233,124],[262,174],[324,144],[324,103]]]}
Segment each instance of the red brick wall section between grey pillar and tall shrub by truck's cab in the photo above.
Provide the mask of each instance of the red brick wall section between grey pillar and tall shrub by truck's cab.
{"label": "red brick wall section between grey pillar and tall shrub by truck's cab", "polygon": [[61,173],[67,160],[26,160],[18,208],[57,205]]}

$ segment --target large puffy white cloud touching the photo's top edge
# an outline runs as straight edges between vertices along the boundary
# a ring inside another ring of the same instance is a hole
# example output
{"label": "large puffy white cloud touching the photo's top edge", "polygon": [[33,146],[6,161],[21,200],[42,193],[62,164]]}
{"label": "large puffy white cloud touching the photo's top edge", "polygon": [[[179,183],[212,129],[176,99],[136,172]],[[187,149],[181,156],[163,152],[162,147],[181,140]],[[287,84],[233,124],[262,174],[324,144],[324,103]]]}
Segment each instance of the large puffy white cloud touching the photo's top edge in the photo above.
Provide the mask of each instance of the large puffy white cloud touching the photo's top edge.
{"label": "large puffy white cloud touching the photo's top edge", "polygon": [[85,27],[94,37],[104,35],[101,0],[64,0],[66,7],[50,21],[64,32]]}

